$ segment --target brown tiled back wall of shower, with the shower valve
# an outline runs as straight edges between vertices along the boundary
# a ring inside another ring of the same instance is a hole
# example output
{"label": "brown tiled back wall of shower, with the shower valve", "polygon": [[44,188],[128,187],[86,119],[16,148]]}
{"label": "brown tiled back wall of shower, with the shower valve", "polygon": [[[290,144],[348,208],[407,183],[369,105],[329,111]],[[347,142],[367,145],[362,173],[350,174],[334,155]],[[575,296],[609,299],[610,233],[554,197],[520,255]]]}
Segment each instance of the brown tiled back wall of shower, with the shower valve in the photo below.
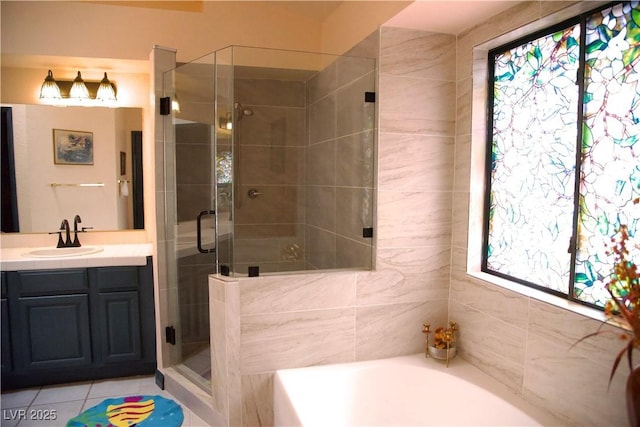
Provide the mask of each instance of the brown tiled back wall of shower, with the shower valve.
{"label": "brown tiled back wall of shower, with the shower valve", "polygon": [[[262,71],[261,71],[262,70]],[[239,181],[235,205],[234,269],[302,270],[304,267],[305,80],[307,74],[256,77],[264,69],[235,67],[234,97],[253,111],[236,122]],[[243,167],[251,165],[251,167]],[[256,198],[249,190],[262,193]],[[287,248],[297,254],[287,256]],[[297,255],[297,256],[296,256]]]}

